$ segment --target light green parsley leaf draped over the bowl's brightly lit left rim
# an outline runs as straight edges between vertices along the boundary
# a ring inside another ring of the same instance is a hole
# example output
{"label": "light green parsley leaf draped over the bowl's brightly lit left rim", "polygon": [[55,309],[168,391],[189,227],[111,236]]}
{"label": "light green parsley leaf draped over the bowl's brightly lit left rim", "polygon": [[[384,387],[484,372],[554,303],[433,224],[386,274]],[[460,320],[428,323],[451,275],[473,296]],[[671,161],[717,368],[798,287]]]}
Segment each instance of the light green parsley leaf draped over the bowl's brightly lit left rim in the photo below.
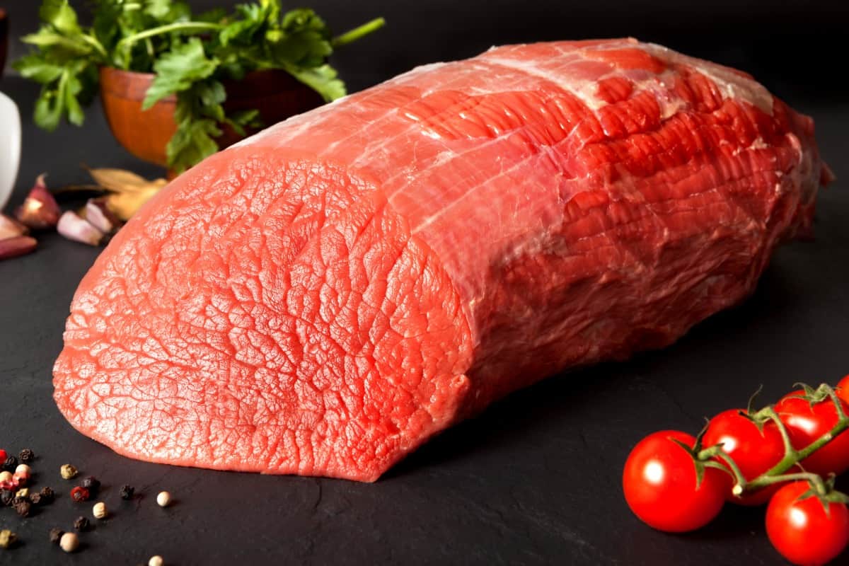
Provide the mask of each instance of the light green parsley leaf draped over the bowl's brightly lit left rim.
{"label": "light green parsley leaf draped over the bowl's brightly lit left rim", "polygon": [[144,97],[142,108],[149,109],[169,94],[188,90],[195,81],[211,76],[217,67],[217,59],[206,58],[204,45],[199,37],[192,37],[188,42],[175,45],[154,65],[156,78]]}

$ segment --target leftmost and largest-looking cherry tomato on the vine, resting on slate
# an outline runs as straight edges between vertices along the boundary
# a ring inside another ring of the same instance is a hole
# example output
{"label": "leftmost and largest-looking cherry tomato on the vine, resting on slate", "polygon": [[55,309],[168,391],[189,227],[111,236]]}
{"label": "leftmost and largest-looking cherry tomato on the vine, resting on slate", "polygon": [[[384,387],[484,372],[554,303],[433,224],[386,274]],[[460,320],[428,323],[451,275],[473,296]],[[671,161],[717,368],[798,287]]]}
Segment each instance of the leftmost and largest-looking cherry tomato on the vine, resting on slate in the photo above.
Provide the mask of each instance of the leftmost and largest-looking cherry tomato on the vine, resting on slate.
{"label": "leftmost and largest-looking cherry tomato on the vine, resting on slate", "polygon": [[717,468],[705,468],[696,487],[696,468],[689,453],[672,439],[694,446],[691,434],[662,430],[634,446],[625,462],[622,489],[628,507],[657,530],[683,533],[710,523],[719,514],[730,481]]}

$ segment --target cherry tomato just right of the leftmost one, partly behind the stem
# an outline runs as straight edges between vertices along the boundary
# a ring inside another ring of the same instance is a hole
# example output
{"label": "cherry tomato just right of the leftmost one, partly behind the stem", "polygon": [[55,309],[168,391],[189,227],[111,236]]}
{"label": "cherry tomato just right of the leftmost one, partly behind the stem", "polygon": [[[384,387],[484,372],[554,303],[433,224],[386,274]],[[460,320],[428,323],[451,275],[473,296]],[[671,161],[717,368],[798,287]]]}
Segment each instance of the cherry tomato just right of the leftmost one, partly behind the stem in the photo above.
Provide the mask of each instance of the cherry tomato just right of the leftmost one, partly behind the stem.
{"label": "cherry tomato just right of the leftmost one, partly behind the stem", "polygon": [[[708,448],[722,443],[722,450],[730,456],[745,479],[755,479],[772,468],[784,457],[784,441],[775,423],[766,423],[762,430],[748,418],[730,409],[711,418],[702,446]],[[721,459],[717,458],[720,462]],[[762,505],[779,489],[772,485],[750,495],[737,497],[728,489],[726,499],[740,505]]]}

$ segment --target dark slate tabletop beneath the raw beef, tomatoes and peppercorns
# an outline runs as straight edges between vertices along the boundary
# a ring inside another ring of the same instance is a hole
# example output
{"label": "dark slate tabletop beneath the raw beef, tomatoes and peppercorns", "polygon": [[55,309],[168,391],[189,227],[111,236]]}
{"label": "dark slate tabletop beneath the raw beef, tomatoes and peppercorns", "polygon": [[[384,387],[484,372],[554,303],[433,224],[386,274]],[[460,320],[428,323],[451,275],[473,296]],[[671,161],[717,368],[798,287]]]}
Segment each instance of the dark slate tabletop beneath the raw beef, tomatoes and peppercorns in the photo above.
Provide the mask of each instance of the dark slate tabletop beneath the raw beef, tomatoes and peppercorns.
{"label": "dark slate tabletop beneath the raw beef, tomatoes and peppercorns", "polygon": [[[351,76],[355,88],[381,78]],[[116,146],[99,109],[82,130],[46,134],[29,120],[37,87],[6,77],[0,89],[25,116],[13,204],[42,171],[53,187],[84,181],[83,162],[157,174]],[[801,92],[791,102],[817,120],[825,158],[838,177],[849,178],[849,105],[829,100]],[[0,552],[0,564],[134,564],[156,553],[181,566],[782,563],[759,510],[728,508],[692,535],[649,530],[622,499],[621,466],[645,434],[695,431],[703,417],[745,404],[759,384],[774,399],[797,380],[835,381],[849,372],[847,213],[839,180],[820,199],[817,240],[780,249],[744,305],[666,350],[512,395],[374,485],[135,462],[77,434],[53,406],[50,370],[70,298],[98,249],[44,236],[36,254],[0,262],[0,447],[36,451],[38,484],[52,485],[60,497],[32,518],[0,509],[0,528],[23,540]],[[73,518],[91,511],[70,502],[72,484],[59,479],[65,462],[103,480],[102,499],[114,513],[82,535],[74,556],[48,543],[51,527],[70,529]],[[141,497],[121,502],[124,483]],[[171,508],[155,505],[163,489],[177,499]]]}

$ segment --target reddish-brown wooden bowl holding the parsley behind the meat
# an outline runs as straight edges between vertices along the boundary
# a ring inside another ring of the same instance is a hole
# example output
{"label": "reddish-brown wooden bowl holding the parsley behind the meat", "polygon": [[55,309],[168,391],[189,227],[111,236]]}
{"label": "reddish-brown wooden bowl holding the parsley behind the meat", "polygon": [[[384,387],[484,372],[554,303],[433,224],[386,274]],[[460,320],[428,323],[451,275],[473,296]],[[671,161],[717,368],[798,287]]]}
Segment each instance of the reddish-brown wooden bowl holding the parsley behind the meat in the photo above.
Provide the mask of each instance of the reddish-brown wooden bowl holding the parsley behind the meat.
{"label": "reddish-brown wooden bowl holding the parsley behind the meat", "polygon": [[[166,145],[177,131],[174,122],[177,97],[163,98],[150,109],[143,110],[144,94],[153,80],[152,73],[101,67],[100,99],[118,143],[136,157],[165,167]],[[323,103],[318,92],[283,70],[254,71],[241,81],[223,81],[223,84],[227,91],[224,110],[229,114],[235,110],[258,109],[265,126]],[[222,149],[242,139],[229,126],[222,126],[222,132],[216,140]]]}

